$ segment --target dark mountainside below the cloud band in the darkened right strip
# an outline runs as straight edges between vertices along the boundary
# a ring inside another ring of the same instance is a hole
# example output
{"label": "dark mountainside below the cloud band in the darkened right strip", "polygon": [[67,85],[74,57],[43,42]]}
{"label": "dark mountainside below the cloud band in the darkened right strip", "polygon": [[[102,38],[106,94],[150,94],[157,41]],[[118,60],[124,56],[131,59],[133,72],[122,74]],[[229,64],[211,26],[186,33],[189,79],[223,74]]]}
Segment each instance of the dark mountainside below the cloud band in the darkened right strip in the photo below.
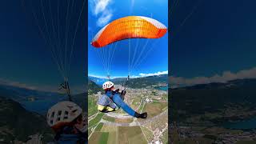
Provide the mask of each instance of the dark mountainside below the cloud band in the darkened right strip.
{"label": "dark mountainside below the cloud band in the darkened right strip", "polygon": [[169,91],[171,120],[176,122],[198,114],[226,115],[226,110],[253,114],[256,107],[256,79],[201,84]]}

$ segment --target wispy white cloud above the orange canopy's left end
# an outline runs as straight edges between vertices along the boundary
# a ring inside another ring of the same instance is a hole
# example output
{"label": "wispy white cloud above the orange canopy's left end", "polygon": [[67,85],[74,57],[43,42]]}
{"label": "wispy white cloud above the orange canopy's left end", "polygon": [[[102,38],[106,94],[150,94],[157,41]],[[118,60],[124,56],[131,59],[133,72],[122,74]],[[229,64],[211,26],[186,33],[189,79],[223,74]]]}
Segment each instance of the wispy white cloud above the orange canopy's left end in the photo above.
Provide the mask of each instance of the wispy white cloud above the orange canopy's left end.
{"label": "wispy white cloud above the orange canopy's left end", "polygon": [[[113,10],[110,7],[111,0],[91,0],[90,8],[96,18],[97,26],[105,26],[113,16]],[[100,16],[98,16],[100,15]]]}

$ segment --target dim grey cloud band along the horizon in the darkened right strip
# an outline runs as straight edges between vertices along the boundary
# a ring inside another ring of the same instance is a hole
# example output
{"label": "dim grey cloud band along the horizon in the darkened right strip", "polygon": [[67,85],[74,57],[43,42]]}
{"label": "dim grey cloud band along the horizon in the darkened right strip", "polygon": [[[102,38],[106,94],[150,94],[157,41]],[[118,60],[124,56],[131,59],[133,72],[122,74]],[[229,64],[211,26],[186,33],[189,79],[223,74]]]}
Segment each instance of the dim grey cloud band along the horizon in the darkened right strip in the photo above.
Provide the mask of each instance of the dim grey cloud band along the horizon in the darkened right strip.
{"label": "dim grey cloud band along the horizon in the darkened right strip", "polygon": [[170,77],[170,86],[193,86],[197,84],[207,84],[211,82],[228,82],[235,79],[244,78],[256,78],[256,67],[250,70],[240,70],[237,73],[231,73],[230,71],[224,71],[222,75],[215,74],[211,77],[194,77],[194,78],[182,78],[182,77]]}

